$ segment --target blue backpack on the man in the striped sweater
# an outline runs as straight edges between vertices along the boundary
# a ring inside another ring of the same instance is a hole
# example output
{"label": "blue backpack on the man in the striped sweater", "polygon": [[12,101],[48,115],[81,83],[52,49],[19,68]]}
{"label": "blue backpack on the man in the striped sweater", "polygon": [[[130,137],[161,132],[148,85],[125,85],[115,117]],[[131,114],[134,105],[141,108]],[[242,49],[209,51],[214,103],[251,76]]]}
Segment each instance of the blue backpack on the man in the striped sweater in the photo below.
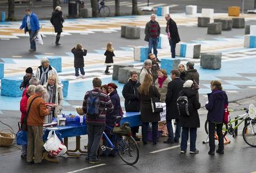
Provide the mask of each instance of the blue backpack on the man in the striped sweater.
{"label": "blue backpack on the man in the striped sweater", "polygon": [[101,91],[93,96],[92,95],[92,92],[89,91],[89,97],[87,98],[86,100],[86,109],[87,109],[87,118],[90,118],[90,119],[97,119],[98,116],[101,114],[101,112],[99,111],[100,110],[100,93]]}

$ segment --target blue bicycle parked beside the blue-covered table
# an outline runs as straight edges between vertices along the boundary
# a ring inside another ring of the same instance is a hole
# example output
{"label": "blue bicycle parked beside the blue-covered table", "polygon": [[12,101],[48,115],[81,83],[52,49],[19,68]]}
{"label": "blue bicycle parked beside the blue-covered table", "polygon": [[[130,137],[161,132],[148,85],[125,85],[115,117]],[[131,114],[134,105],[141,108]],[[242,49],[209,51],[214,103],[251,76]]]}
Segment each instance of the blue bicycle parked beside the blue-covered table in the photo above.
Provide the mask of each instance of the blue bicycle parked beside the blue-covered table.
{"label": "blue bicycle parked beside the blue-covered table", "polygon": [[[118,121],[121,119],[121,116],[116,116],[115,120]],[[119,124],[115,123],[115,127],[118,127]],[[126,123],[126,125],[129,125],[129,123]],[[112,127],[107,126],[107,128],[110,129],[111,134],[116,135],[115,145],[112,144],[109,137],[106,135],[106,133],[103,133],[103,138],[107,140],[107,143],[110,145],[110,147],[102,145],[100,148],[102,151],[105,151],[106,149],[109,150],[115,150],[117,151],[117,154],[121,157],[121,159],[128,165],[134,165],[139,160],[139,147],[137,146],[137,143],[134,138],[132,138],[131,133],[129,134],[119,134],[114,133]],[[127,156],[127,157],[126,157]]]}

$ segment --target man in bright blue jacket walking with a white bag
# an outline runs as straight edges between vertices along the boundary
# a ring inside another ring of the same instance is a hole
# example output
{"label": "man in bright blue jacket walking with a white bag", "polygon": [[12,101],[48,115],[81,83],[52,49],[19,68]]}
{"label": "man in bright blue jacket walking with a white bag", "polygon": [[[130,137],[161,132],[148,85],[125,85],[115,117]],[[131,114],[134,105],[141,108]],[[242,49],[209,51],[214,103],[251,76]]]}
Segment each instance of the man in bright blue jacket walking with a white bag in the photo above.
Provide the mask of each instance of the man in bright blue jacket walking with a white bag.
{"label": "man in bright blue jacket walking with a white bag", "polygon": [[36,51],[36,43],[35,43],[35,37],[38,33],[38,30],[40,29],[39,22],[37,19],[37,16],[35,13],[31,12],[31,9],[26,9],[26,15],[22,19],[22,24],[19,29],[23,29],[26,34],[26,32],[29,33],[29,41],[30,41],[30,49],[29,52],[35,52]]}

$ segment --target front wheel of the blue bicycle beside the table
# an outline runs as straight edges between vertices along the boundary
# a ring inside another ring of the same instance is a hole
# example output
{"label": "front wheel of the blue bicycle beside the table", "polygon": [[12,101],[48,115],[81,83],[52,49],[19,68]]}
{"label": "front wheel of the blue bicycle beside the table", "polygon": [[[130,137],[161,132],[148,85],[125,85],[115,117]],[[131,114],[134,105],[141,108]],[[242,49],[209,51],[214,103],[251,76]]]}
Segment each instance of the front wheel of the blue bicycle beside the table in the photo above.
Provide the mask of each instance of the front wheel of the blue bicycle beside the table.
{"label": "front wheel of the blue bicycle beside the table", "polygon": [[117,136],[116,150],[121,159],[128,165],[134,165],[139,160],[139,148],[134,138],[129,135]]}

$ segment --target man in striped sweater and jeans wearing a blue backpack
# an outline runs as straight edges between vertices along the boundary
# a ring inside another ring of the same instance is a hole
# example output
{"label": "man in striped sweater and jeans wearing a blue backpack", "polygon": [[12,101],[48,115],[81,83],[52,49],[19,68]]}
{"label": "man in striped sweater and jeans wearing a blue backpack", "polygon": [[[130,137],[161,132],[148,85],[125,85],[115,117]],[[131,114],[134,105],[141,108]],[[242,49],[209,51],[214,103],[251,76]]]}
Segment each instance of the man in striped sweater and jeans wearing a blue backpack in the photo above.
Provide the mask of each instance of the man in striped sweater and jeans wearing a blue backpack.
{"label": "man in striped sweater and jeans wearing a blue backpack", "polygon": [[[91,90],[92,96],[99,94],[101,87],[101,79],[94,78],[92,80],[93,90]],[[85,98],[83,99],[83,112],[87,114],[87,99],[90,96],[90,91],[85,93]],[[96,118],[86,115],[86,125],[87,125],[87,134],[88,134],[88,156],[85,160],[89,161],[91,164],[100,162],[100,159],[97,158],[97,151],[100,146],[100,139],[105,129],[106,113],[111,113],[114,109],[114,106],[111,103],[111,100],[107,94],[101,92],[98,95],[100,99],[99,105],[99,115]]]}

